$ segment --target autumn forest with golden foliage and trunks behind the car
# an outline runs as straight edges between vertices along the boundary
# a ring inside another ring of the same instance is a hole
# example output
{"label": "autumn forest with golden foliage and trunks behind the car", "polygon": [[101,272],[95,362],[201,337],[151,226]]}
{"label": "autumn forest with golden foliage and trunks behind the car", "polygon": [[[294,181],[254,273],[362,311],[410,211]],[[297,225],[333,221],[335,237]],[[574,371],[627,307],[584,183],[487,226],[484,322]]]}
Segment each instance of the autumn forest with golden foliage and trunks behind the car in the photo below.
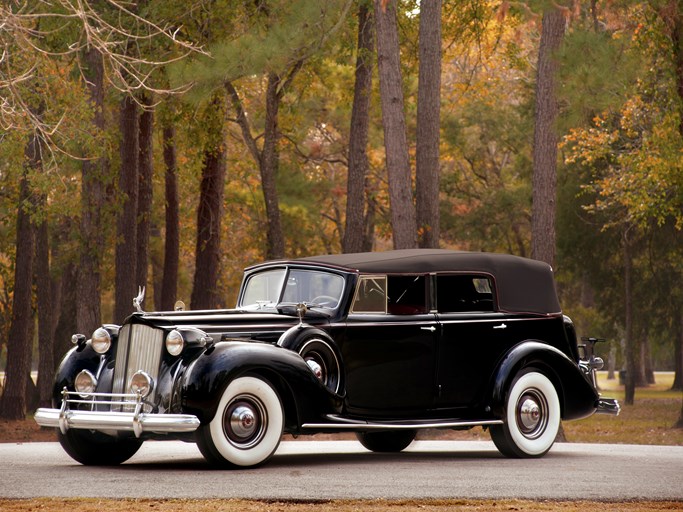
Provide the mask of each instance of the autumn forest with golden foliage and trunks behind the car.
{"label": "autumn forest with golden foliage and trunks behind the car", "polygon": [[683,1],[3,0],[0,21],[0,417],[48,403],[71,335],[139,286],[231,307],[263,259],[417,246],[547,261],[627,404],[654,369],[683,389]]}

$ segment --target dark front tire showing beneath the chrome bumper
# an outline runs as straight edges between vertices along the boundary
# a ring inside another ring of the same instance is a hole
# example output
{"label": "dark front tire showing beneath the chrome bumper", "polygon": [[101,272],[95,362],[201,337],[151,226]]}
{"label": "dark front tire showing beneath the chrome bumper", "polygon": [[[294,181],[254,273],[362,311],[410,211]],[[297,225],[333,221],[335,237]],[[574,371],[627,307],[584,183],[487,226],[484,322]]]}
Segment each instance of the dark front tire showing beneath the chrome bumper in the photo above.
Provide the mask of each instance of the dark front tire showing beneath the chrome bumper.
{"label": "dark front tire showing beneath the chrome bumper", "polygon": [[85,466],[116,466],[130,459],[142,446],[136,438],[116,439],[90,430],[57,432],[59,444],[69,456]]}

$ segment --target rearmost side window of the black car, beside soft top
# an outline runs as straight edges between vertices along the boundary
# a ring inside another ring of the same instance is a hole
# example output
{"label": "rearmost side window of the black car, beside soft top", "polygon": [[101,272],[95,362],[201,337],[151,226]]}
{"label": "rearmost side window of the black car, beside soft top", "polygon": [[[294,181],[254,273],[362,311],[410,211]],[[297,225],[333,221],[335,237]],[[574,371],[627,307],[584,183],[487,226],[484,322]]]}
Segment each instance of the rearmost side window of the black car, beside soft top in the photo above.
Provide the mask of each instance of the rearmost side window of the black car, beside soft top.
{"label": "rearmost side window of the black car, beside soft top", "polygon": [[486,276],[439,275],[436,301],[439,313],[494,311],[493,283]]}

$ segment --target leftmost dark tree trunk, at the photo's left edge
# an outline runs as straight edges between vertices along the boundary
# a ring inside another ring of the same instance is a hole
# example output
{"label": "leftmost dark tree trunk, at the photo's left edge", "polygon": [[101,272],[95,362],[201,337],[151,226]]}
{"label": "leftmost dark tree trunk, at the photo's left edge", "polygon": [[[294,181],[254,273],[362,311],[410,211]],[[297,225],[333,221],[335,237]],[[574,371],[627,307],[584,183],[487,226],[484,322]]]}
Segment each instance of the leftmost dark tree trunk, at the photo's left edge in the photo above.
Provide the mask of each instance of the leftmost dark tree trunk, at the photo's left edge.
{"label": "leftmost dark tree trunk, at the photo's left edge", "polygon": [[31,375],[33,348],[33,264],[35,255],[34,225],[26,207],[31,202],[28,167],[41,165],[39,141],[32,135],[26,145],[27,168],[20,183],[17,212],[16,265],[14,268],[14,299],[12,319],[7,341],[5,385],[0,400],[0,418],[23,420],[26,417],[27,378]]}

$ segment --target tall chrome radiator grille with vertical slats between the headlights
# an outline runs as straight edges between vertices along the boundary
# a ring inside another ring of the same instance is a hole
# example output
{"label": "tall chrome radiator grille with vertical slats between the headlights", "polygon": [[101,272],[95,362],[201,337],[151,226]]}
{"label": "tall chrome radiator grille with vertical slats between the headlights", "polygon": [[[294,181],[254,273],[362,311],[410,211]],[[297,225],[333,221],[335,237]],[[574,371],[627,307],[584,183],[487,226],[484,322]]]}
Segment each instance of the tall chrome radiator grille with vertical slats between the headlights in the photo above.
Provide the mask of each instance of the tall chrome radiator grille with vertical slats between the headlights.
{"label": "tall chrome radiator grille with vertical slats between the headlights", "polygon": [[[164,344],[164,333],[160,329],[146,325],[126,324],[119,331],[119,342],[116,348],[116,366],[114,367],[114,384],[112,393],[131,393],[130,379],[140,370],[147,372],[156,383],[159,376],[159,363]],[[145,399],[154,403],[156,389]],[[130,412],[135,409],[131,405],[112,406],[112,410]],[[149,412],[151,407],[145,407]]]}

